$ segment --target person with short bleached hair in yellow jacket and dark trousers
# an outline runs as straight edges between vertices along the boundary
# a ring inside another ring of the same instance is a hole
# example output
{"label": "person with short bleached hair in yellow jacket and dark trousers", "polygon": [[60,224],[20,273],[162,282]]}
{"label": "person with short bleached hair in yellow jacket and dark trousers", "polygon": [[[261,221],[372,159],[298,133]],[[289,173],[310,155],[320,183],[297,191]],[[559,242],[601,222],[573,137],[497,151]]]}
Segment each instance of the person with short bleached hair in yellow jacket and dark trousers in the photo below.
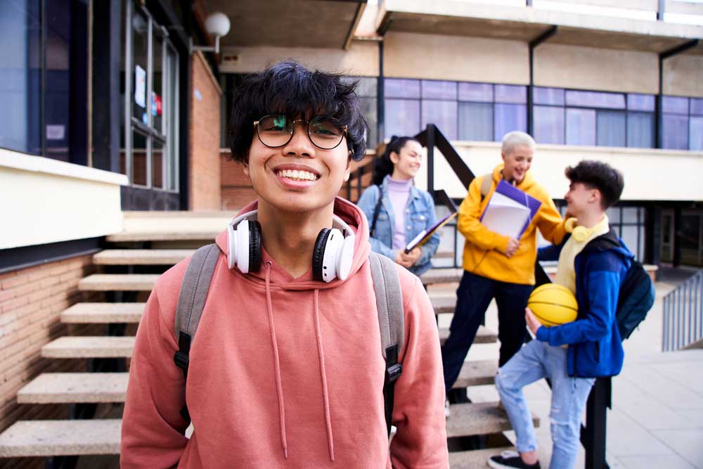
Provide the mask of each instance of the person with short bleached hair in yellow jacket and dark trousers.
{"label": "person with short bleached hair in yellow jacket and dark trousers", "polygon": [[[475,178],[459,207],[457,228],[466,238],[464,274],[456,290],[449,338],[442,347],[447,395],[493,298],[498,305],[499,366],[520,349],[527,333],[524,309],[535,283],[537,229],[550,243],[559,244],[565,236],[564,221],[554,201],[529,171],[534,148],[534,139],[524,132],[505,134],[501,147],[503,163],[493,170],[492,181],[484,180],[488,174]],[[490,231],[480,221],[501,179],[542,203],[519,240]]]}

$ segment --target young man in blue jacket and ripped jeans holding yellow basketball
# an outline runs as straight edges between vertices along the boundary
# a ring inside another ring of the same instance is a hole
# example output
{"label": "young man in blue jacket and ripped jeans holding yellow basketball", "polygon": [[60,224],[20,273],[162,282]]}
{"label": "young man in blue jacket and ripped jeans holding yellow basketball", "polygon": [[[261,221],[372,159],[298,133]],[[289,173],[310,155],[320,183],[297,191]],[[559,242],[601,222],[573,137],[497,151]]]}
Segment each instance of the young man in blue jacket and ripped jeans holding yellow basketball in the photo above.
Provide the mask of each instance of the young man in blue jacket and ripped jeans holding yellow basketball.
{"label": "young man in blue jacket and ripped jeans holding yellow basketball", "polygon": [[555,283],[572,290],[579,303],[575,321],[546,327],[525,309],[535,335],[498,370],[496,388],[515,428],[517,451],[491,456],[491,468],[540,467],[532,418],[522,388],[550,378],[553,442],[551,469],[572,469],[579,448],[581,414],[595,378],[620,373],[624,359],[615,312],[621,282],[633,255],[610,228],[605,211],[624,188],[622,174],[603,162],[581,161],[566,169],[571,181],[565,195],[571,235],[543,248],[539,259],[558,259]]}

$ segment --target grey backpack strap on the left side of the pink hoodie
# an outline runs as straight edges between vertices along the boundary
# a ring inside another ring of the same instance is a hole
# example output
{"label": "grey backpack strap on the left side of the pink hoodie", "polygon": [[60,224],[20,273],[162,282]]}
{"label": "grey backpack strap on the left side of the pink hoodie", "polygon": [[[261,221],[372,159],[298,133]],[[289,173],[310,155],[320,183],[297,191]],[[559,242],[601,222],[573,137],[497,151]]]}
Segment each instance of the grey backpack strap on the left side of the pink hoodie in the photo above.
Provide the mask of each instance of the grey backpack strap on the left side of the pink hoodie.
{"label": "grey backpack strap on the left side of the pink hoodie", "polygon": [[[183,370],[183,386],[188,379],[188,361],[191,353],[191,343],[198,329],[202,310],[205,308],[207,290],[210,288],[212,274],[219,259],[219,248],[209,244],[198,248],[188,263],[186,274],[181,282],[181,293],[176,306],[176,338],[178,338],[178,351],[174,354],[176,366]],[[181,416],[190,421],[188,406],[183,404]]]}

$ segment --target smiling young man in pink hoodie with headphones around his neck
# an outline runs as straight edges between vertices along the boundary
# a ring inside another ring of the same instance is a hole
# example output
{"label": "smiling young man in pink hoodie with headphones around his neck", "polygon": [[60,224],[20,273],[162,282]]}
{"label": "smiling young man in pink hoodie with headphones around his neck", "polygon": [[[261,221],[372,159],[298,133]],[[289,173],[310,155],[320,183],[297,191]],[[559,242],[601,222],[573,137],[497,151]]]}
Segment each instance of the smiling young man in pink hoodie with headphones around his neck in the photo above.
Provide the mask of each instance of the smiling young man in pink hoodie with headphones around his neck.
{"label": "smiling young man in pink hoodie with headphones around his neck", "polygon": [[[240,219],[228,229],[245,245],[236,249],[228,231],[217,237],[185,389],[174,317],[189,260],[157,282],[131,359],[122,468],[449,468],[434,312],[401,267],[403,371],[389,447],[368,223],[336,197],[365,151],[354,85],[279,63],[245,79],[231,116],[232,157],[257,193],[241,212],[248,229]],[[350,249],[328,264],[332,236]]]}

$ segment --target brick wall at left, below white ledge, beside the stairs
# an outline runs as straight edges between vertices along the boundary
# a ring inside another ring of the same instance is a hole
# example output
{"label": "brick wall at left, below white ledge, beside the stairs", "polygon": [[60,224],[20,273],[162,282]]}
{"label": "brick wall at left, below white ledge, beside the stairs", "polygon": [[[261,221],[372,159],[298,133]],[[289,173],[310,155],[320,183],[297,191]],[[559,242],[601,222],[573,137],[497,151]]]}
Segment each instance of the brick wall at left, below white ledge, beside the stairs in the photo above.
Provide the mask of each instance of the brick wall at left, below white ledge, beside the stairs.
{"label": "brick wall at left, below white ledge, beside the stairs", "polygon": [[16,395],[41,373],[85,371],[84,360],[43,359],[40,350],[62,335],[103,334],[101,326],[59,321],[72,304],[102,299],[78,291],[78,281],[94,271],[91,256],[84,255],[0,274],[0,432],[16,420],[67,417],[66,405],[20,405]]}

